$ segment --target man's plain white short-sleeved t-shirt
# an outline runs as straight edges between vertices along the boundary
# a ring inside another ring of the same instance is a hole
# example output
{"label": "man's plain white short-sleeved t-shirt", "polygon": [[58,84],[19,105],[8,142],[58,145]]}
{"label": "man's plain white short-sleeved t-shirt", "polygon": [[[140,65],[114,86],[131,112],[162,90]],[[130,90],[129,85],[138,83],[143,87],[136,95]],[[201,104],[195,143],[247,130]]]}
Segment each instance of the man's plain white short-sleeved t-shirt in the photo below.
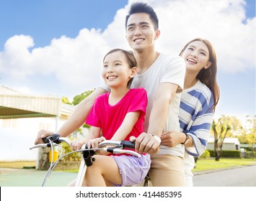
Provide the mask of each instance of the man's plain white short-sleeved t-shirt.
{"label": "man's plain white short-sleeved t-shirt", "polygon": [[[178,85],[177,93],[169,106],[169,114],[164,131],[180,131],[179,108],[180,93],[185,79],[185,61],[182,57],[171,57],[170,55],[160,54],[156,61],[141,75],[136,75],[133,79],[131,88],[145,88],[148,95],[148,106],[146,108],[144,130],[149,128],[149,116],[154,101],[156,89],[160,83],[174,83]],[[172,154],[184,156],[184,146],[179,144],[173,148],[161,146],[159,154]]]}

